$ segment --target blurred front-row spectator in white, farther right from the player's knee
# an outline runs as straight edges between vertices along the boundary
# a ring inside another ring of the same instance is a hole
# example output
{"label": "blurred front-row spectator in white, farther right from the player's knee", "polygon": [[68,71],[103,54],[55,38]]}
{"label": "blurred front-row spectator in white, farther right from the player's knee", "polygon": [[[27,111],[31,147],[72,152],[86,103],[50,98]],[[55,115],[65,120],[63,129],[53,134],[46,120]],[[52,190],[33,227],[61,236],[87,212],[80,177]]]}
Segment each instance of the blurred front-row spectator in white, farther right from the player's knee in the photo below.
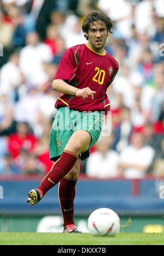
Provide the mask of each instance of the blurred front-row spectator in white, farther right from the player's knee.
{"label": "blurred front-row spectator in white, farther right from the player's knee", "polygon": [[141,133],[133,133],[131,144],[120,155],[119,173],[125,178],[143,178],[154,159],[154,149],[144,145]]}

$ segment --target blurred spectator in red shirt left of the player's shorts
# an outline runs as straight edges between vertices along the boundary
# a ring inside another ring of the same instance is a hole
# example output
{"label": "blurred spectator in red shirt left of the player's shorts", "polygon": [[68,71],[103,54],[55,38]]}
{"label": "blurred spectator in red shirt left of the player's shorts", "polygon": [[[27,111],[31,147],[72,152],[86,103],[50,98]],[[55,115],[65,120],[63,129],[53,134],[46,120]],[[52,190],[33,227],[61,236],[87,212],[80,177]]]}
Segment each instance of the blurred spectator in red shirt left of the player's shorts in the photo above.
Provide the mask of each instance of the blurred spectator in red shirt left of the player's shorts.
{"label": "blurred spectator in red shirt left of the player's shorts", "polygon": [[9,136],[8,149],[12,158],[16,158],[20,154],[21,149],[34,152],[38,143],[38,139],[30,132],[27,123],[17,124],[17,132]]}

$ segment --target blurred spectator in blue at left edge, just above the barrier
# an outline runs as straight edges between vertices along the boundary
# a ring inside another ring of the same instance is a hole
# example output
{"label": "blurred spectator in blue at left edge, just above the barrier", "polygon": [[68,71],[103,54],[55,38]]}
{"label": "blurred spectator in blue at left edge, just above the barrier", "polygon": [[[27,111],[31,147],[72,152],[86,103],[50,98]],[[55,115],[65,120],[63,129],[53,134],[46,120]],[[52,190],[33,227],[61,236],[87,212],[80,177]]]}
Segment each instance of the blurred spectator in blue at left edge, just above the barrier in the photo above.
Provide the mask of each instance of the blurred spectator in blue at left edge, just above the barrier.
{"label": "blurred spectator in blue at left edge, just above the barrier", "polygon": [[0,163],[0,174],[19,174],[20,170],[13,163],[11,155],[6,153]]}

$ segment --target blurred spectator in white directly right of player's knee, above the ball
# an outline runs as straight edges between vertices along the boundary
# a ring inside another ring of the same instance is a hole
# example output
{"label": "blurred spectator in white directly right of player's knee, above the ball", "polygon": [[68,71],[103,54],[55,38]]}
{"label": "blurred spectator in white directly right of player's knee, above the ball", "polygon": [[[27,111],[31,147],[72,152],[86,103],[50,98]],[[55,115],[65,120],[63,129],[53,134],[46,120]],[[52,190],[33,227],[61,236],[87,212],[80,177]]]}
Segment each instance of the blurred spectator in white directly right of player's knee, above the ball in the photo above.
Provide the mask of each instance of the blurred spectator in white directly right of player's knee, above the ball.
{"label": "blurred spectator in white directly right of player's knee, above the ball", "polygon": [[119,156],[111,149],[113,141],[113,135],[108,135],[107,137],[101,137],[96,143],[96,152],[93,152],[87,160],[87,176],[109,178],[118,175]]}

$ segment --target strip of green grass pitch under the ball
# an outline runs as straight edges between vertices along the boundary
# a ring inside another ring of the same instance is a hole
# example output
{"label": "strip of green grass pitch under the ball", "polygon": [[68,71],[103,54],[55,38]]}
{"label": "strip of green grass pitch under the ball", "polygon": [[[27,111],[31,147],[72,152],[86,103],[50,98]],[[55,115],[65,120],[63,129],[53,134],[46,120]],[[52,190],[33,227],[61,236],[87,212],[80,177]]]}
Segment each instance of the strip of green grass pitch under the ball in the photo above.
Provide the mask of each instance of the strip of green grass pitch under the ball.
{"label": "strip of green grass pitch under the ball", "polygon": [[90,234],[0,232],[0,245],[164,245],[164,234],[120,233],[115,237]]}

